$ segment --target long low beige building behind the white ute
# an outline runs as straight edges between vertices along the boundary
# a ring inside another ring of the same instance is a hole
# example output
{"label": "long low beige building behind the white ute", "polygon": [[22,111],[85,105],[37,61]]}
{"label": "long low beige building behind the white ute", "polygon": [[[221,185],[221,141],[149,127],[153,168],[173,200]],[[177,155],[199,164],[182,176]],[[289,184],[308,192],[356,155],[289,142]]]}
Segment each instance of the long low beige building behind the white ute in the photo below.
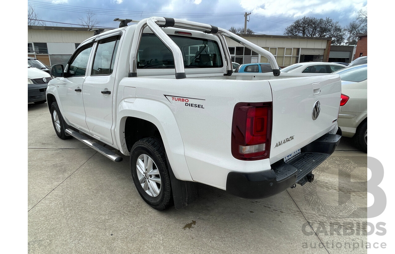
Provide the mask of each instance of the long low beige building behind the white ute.
{"label": "long low beige building behind the white ute", "polygon": [[[48,66],[66,65],[75,48],[93,35],[87,28],[59,26],[28,26],[28,56],[36,57]],[[280,67],[293,63],[324,61],[329,59],[332,38],[298,37],[282,35],[242,35],[265,50],[270,51]],[[227,38],[232,61],[237,63],[267,63],[266,57]]]}

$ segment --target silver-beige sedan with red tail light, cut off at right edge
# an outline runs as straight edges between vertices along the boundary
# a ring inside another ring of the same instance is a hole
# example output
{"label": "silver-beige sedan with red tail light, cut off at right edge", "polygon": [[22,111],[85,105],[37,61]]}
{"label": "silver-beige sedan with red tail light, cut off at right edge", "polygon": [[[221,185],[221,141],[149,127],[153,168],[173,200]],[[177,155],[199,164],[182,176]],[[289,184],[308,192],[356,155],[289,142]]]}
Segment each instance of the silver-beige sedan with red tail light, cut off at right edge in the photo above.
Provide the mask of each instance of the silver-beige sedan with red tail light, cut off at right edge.
{"label": "silver-beige sedan with red tail light, cut off at right edge", "polygon": [[355,65],[335,73],[342,80],[338,125],[344,137],[353,137],[355,145],[367,152],[367,72],[368,65]]}

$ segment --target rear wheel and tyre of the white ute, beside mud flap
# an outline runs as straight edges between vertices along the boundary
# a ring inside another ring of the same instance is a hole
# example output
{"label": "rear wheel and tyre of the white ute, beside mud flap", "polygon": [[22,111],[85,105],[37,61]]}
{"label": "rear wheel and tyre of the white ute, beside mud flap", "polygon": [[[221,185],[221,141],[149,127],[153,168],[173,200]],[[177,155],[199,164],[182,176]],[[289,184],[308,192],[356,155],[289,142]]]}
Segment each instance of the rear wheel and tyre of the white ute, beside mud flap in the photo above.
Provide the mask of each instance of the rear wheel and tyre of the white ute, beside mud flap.
{"label": "rear wheel and tyre of the white ute, beside mud flap", "polygon": [[171,206],[170,177],[162,141],[154,137],[140,139],[130,153],[133,182],[143,200],[156,210]]}

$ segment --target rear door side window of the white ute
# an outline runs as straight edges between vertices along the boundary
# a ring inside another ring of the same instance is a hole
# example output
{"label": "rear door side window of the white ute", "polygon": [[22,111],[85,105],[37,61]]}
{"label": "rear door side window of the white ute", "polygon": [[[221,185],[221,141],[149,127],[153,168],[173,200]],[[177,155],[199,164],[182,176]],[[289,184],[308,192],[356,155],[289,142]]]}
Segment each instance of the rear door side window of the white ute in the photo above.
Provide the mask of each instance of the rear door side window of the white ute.
{"label": "rear door side window of the white ute", "polygon": [[119,36],[115,36],[98,42],[93,60],[92,76],[109,75],[113,72],[119,39]]}

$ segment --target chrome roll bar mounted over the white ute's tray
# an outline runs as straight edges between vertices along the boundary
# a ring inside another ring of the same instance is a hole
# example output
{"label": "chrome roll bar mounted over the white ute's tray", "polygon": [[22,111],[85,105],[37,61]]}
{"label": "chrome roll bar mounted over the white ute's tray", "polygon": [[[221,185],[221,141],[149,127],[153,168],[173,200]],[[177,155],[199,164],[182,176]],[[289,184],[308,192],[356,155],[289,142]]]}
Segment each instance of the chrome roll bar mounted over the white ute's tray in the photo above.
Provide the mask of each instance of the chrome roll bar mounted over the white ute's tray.
{"label": "chrome roll bar mounted over the white ute's tray", "polygon": [[279,76],[280,69],[278,68],[277,62],[273,54],[269,51],[261,48],[260,46],[247,41],[246,39],[236,35],[228,30],[218,28],[216,26],[211,26],[208,24],[193,22],[189,20],[182,20],[182,19],[173,19],[173,18],[164,18],[164,17],[150,17],[148,19],[143,19],[137,23],[137,27],[133,37],[132,49],[130,51],[130,72],[129,77],[137,77],[137,54],[140,46],[141,37],[143,35],[143,30],[146,27],[149,27],[152,32],[169,48],[171,53],[174,57],[174,65],[175,65],[175,77],[177,79],[186,78],[185,69],[184,69],[184,61],[182,59],[182,53],[180,48],[170,39],[170,37],[161,29],[161,27],[174,27],[174,28],[184,28],[190,30],[201,31],[205,33],[213,33],[216,35],[222,44],[222,49],[225,52],[225,57],[227,61],[227,73],[224,75],[230,76],[232,74],[232,63],[231,57],[229,54],[228,46],[226,43],[226,39],[224,36],[237,41],[238,43],[242,44],[243,46],[249,48],[261,54],[262,56],[269,59],[269,63],[271,68],[273,69],[273,75]]}

